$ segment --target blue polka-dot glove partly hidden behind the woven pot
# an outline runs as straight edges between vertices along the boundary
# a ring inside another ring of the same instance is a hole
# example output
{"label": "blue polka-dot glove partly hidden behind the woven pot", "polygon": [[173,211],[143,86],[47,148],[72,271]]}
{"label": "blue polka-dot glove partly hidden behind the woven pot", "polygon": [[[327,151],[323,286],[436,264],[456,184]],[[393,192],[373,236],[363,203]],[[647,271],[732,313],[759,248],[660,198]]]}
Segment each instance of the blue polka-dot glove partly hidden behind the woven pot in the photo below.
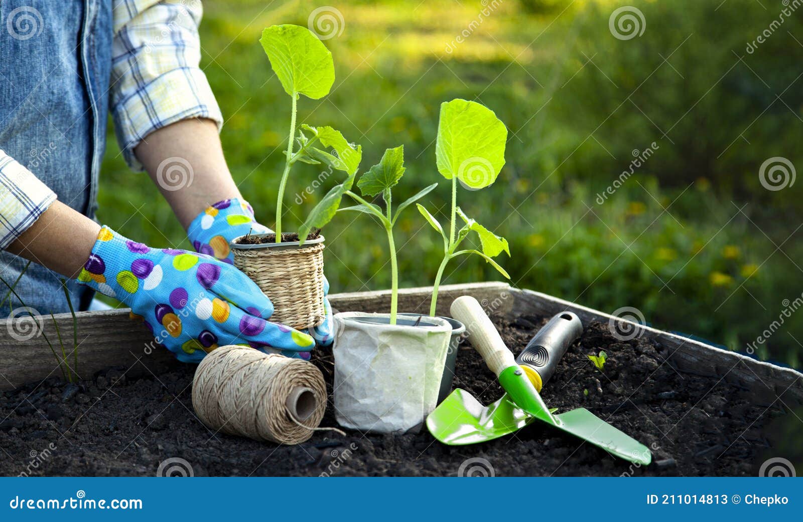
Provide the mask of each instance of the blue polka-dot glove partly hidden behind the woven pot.
{"label": "blue polka-dot glove partly hidden behind the woven pot", "polygon": [[[230,242],[247,233],[271,233],[265,225],[254,219],[254,209],[247,201],[238,198],[222,200],[201,212],[187,229],[187,237],[193,248],[218,258],[220,261],[233,264],[234,253],[229,248]],[[329,293],[329,281],[324,277],[324,310],[326,320],[319,326],[308,330],[322,346],[332,344],[332,306],[326,295]]]}

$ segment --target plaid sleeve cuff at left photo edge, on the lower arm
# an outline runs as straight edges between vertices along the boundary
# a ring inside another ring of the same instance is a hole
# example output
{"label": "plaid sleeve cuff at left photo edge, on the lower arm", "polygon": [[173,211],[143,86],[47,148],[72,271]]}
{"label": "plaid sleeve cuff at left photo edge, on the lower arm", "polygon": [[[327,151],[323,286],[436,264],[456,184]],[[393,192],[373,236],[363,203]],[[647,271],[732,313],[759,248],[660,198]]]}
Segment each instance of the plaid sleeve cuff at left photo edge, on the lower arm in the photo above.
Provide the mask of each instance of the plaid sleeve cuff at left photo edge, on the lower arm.
{"label": "plaid sleeve cuff at left photo edge, on the lower arm", "polygon": [[0,149],[0,249],[5,249],[55,201],[55,193]]}

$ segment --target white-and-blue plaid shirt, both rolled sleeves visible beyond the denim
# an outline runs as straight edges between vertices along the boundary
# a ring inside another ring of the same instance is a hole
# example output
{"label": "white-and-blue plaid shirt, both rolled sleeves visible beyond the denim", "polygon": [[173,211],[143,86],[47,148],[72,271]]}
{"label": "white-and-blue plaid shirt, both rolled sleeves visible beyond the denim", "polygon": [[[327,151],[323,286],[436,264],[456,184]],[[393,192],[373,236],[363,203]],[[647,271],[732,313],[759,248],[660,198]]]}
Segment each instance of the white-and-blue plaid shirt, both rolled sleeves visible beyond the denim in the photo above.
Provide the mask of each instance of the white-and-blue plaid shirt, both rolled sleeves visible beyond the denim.
{"label": "white-and-blue plaid shirt, both rolled sleeves visible beyond the denim", "polygon": [[[151,132],[188,118],[223,118],[198,64],[200,0],[113,0],[110,105],[128,165]],[[0,150],[0,249],[30,227],[56,199],[28,169]]]}

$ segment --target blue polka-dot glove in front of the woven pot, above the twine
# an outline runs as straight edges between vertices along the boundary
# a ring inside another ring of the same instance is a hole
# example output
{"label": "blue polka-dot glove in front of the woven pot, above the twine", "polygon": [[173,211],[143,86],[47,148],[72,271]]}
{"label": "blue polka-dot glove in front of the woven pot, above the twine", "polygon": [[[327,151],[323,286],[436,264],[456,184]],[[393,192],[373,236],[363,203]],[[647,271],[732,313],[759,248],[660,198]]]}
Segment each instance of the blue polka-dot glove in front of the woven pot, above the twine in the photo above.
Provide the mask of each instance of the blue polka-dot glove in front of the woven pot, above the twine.
{"label": "blue polka-dot glove in front of the woven pot, above the twine", "polygon": [[151,249],[105,226],[78,281],[130,306],[184,362],[231,344],[307,358],[315,346],[308,334],[268,322],[271,300],[234,266],[205,254]]}

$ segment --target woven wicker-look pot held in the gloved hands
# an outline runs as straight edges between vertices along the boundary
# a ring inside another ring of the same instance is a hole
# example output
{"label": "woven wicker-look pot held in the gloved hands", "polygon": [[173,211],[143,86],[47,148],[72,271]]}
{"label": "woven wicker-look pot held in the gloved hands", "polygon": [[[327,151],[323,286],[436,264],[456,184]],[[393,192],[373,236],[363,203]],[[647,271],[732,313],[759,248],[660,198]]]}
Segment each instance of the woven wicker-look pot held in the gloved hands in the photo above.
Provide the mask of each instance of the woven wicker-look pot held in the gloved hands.
{"label": "woven wicker-look pot held in the gloved hands", "polygon": [[[272,234],[251,234],[251,237]],[[273,303],[271,322],[297,330],[319,326],[324,310],[324,237],[305,241],[238,245],[231,241],[234,266],[259,286]]]}

